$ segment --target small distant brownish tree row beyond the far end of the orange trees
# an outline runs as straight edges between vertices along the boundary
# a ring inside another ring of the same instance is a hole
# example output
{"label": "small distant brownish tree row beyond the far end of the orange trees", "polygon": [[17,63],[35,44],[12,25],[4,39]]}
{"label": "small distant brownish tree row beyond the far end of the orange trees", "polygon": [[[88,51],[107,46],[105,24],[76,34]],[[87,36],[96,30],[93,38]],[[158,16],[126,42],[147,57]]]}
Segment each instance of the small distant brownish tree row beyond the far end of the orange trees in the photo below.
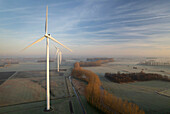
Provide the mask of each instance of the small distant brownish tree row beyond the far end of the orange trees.
{"label": "small distant brownish tree row beyond the far end of the orange trees", "polygon": [[101,64],[113,62],[113,58],[91,58],[91,62],[79,62],[81,67],[100,66]]}

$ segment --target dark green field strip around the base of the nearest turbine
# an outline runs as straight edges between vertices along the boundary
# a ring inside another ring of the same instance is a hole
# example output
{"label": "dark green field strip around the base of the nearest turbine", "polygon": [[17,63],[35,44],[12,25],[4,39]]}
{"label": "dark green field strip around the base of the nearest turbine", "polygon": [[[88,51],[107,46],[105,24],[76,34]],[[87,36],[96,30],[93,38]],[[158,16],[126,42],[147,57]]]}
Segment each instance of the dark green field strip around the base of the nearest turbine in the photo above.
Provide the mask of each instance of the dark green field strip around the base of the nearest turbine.
{"label": "dark green field strip around the base of the nearest turbine", "polygon": [[[58,99],[51,100],[51,105],[53,108],[52,114],[70,114],[69,110],[69,99]],[[7,107],[1,107],[1,114],[47,114],[44,112],[46,101],[31,102],[19,105],[11,105]]]}

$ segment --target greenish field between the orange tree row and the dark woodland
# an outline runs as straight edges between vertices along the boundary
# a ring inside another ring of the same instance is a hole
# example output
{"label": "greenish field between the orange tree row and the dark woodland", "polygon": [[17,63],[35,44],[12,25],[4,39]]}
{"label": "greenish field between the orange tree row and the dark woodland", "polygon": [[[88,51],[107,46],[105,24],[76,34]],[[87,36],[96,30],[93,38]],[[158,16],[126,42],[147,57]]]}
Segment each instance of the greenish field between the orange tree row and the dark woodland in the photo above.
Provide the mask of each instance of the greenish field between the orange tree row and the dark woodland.
{"label": "greenish field between the orange tree row and the dark woodland", "polygon": [[170,88],[169,82],[146,81],[118,84],[102,79],[103,87],[117,97],[136,103],[148,114],[170,112],[170,97],[158,94],[159,91],[166,91]]}

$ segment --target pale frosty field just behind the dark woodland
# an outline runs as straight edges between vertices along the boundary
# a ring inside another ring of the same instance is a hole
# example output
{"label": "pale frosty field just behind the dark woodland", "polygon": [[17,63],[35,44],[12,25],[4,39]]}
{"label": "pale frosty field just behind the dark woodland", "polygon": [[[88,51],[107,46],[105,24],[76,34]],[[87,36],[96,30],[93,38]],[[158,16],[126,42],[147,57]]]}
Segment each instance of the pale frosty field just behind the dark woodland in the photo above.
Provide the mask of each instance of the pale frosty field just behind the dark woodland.
{"label": "pale frosty field just behind the dark woodland", "polygon": [[157,73],[161,75],[167,75],[170,77],[170,66],[146,66],[138,65],[140,61],[125,61],[119,60],[107,64],[102,64],[98,67],[84,67],[84,69],[91,70],[95,73],[104,74],[108,73],[133,73],[144,71],[146,73]]}

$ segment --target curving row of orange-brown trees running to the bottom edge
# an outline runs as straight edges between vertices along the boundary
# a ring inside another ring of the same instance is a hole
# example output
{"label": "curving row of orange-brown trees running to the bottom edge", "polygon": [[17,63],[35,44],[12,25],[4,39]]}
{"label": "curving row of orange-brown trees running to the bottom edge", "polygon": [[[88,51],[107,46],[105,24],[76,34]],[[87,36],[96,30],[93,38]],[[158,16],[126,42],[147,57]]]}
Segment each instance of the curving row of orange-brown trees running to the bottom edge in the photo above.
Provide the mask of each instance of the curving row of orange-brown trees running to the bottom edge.
{"label": "curving row of orange-brown trees running to the bottom edge", "polygon": [[74,65],[72,76],[88,82],[85,88],[85,97],[90,104],[99,110],[108,114],[145,113],[143,110],[140,110],[136,104],[122,100],[104,90],[99,77],[92,71],[82,69],[78,62]]}

